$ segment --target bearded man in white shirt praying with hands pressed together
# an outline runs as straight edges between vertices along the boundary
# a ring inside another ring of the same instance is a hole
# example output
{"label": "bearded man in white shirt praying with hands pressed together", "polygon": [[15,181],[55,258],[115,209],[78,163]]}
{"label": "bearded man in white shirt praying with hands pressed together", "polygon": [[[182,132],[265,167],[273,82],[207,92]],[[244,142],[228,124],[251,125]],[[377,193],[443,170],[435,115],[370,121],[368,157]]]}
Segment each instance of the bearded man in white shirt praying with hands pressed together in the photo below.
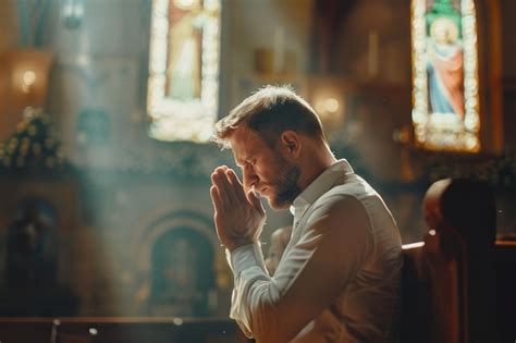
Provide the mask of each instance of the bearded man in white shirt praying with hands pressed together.
{"label": "bearded man in white shirt praying with hands pressed together", "polygon": [[[314,109],[268,86],[216,124],[243,183],[217,168],[214,223],[234,273],[230,317],[259,343],[392,342],[402,269],[396,224],[380,196],[331,152]],[[266,213],[291,208],[273,277],[260,248]]]}

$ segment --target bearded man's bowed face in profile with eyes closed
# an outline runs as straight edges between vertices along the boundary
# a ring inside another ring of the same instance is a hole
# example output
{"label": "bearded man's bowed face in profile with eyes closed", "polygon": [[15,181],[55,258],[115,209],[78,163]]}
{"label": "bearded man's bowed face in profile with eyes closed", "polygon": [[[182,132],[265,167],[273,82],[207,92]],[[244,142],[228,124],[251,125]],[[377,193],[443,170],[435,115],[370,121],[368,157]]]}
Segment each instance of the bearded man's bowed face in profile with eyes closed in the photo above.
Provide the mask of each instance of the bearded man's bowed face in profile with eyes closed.
{"label": "bearded man's bowed face in profile with eyes closed", "polygon": [[231,136],[231,148],[242,169],[244,188],[259,192],[271,208],[287,208],[300,194],[297,185],[300,168],[290,162],[280,149],[271,149],[253,130],[237,128]]}

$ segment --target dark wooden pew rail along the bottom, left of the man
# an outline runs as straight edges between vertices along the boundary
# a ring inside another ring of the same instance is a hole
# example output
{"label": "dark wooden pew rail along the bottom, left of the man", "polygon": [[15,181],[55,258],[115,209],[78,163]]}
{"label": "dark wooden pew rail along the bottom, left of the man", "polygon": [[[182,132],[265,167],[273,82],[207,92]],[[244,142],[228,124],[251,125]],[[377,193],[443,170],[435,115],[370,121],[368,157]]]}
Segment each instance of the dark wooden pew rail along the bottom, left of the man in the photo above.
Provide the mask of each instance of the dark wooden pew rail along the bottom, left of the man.
{"label": "dark wooden pew rail along the bottom, left of the man", "polygon": [[[58,322],[57,322],[58,321]],[[229,319],[0,318],[2,343],[244,343]]]}

